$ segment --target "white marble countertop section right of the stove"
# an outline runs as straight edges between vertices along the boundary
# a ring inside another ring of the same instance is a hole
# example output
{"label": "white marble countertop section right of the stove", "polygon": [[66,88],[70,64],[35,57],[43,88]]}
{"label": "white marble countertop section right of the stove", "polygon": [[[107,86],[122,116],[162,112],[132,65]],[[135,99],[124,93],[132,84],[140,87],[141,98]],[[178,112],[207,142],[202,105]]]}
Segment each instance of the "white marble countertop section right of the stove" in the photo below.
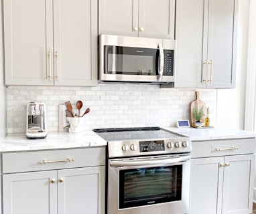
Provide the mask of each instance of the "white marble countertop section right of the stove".
{"label": "white marble countertop section right of the stove", "polygon": [[164,127],[166,130],[189,136],[196,140],[224,140],[234,138],[255,138],[256,133],[229,128],[176,128]]}

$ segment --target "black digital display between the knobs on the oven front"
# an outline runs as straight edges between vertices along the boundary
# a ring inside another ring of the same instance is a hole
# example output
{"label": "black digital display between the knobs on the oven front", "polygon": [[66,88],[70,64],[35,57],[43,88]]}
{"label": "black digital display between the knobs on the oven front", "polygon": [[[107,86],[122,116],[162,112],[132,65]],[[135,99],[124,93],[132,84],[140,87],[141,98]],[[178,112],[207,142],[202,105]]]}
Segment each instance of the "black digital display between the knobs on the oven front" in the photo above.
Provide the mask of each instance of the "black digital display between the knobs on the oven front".
{"label": "black digital display between the knobs on the oven front", "polygon": [[149,140],[139,142],[139,152],[156,152],[164,150],[164,140]]}

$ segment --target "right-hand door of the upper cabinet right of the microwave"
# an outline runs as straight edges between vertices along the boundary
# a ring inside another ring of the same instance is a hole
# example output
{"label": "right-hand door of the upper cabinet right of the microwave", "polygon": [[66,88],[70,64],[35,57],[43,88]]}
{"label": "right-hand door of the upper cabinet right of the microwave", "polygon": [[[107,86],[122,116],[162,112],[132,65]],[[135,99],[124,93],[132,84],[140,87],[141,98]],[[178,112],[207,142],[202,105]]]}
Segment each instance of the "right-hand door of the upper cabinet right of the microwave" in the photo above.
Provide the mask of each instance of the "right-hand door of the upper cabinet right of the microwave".
{"label": "right-hand door of the upper cabinet right of the microwave", "polygon": [[237,51],[236,0],[209,0],[208,25],[208,80],[212,72],[212,84],[207,88],[235,88],[235,64]]}

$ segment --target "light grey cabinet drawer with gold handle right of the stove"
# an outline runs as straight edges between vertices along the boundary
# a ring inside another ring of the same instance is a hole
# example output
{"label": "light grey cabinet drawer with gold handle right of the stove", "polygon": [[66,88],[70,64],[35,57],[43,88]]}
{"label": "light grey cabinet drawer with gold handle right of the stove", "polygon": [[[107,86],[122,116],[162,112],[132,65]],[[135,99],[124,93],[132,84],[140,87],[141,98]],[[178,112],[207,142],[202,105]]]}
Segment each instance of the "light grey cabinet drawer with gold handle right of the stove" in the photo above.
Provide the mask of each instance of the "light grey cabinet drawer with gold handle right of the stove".
{"label": "light grey cabinet drawer with gold handle right of the stove", "polygon": [[192,141],[192,158],[255,153],[256,139]]}

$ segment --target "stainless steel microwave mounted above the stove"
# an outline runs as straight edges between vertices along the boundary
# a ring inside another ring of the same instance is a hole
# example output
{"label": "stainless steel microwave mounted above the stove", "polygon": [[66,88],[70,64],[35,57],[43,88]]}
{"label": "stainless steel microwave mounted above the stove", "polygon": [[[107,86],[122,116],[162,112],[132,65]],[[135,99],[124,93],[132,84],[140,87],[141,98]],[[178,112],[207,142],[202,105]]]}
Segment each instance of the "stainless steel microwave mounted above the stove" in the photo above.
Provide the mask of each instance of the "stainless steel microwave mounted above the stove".
{"label": "stainless steel microwave mounted above the stove", "polygon": [[168,84],[175,60],[174,40],[99,35],[99,82]]}

